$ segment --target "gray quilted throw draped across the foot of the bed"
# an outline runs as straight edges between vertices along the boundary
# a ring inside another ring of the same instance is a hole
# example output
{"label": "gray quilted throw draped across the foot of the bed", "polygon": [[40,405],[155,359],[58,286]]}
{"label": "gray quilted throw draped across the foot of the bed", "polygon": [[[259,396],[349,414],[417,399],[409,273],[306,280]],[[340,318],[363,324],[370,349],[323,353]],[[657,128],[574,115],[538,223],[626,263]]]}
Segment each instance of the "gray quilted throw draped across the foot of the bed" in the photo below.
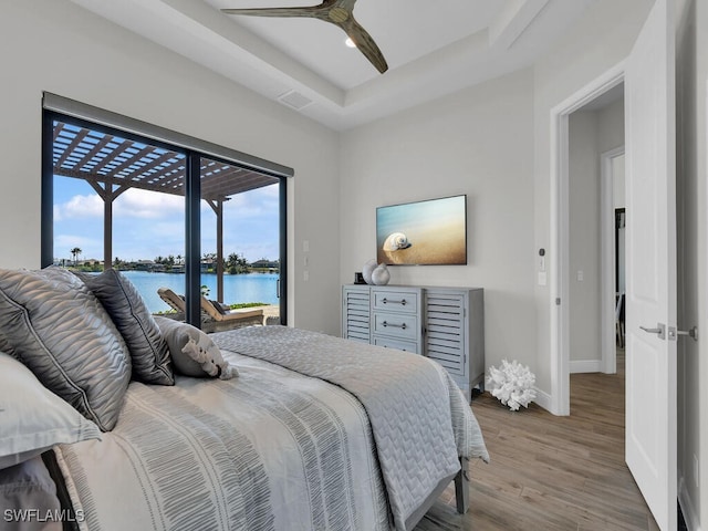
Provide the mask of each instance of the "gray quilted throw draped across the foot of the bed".
{"label": "gray quilted throw draped across the foot of the bed", "polygon": [[459,470],[459,457],[489,458],[459,388],[426,357],[285,326],[249,327],[214,340],[339,385],[362,402],[396,529],[409,529],[416,510]]}

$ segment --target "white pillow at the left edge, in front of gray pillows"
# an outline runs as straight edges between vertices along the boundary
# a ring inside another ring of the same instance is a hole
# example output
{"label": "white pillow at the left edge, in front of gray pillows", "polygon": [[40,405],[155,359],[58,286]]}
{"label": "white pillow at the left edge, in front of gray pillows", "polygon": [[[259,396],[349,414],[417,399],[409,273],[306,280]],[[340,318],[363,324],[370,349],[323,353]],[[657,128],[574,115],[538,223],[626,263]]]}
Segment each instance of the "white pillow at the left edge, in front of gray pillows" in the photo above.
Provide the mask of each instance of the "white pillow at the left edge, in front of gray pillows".
{"label": "white pillow at the left edge, in front of gray pillows", "polygon": [[0,469],[60,442],[100,439],[101,430],[44,387],[32,372],[0,353]]}

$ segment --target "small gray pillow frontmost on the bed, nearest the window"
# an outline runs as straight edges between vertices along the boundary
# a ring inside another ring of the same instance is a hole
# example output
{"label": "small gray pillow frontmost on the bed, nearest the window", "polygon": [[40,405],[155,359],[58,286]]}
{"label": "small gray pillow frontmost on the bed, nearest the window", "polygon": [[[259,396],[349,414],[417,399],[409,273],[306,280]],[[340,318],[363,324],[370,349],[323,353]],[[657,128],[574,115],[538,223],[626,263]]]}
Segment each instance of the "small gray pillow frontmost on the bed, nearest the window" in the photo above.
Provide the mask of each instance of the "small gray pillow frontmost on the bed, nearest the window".
{"label": "small gray pillow frontmost on the bed, nearest the window", "polygon": [[169,346],[177,372],[186,376],[220,379],[239,375],[238,369],[223,360],[219,347],[199,329],[168,317],[156,316],[155,321]]}

